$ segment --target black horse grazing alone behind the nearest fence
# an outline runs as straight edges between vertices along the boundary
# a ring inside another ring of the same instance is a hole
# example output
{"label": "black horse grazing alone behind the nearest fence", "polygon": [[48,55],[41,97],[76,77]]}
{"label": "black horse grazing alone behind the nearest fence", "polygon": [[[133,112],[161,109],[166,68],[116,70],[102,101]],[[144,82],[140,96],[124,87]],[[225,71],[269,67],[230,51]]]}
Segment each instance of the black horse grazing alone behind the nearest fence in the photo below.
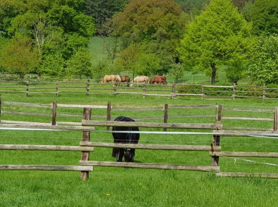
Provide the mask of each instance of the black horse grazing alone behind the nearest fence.
{"label": "black horse grazing alone behind the nearest fence", "polygon": [[[135,122],[128,117],[117,117],[114,121]],[[112,131],[139,131],[138,127],[112,127]],[[120,133],[112,132],[114,143],[138,144],[140,138],[139,133]],[[125,157],[125,162],[133,162],[135,149],[113,148],[112,157],[116,158],[116,162],[122,162]]]}

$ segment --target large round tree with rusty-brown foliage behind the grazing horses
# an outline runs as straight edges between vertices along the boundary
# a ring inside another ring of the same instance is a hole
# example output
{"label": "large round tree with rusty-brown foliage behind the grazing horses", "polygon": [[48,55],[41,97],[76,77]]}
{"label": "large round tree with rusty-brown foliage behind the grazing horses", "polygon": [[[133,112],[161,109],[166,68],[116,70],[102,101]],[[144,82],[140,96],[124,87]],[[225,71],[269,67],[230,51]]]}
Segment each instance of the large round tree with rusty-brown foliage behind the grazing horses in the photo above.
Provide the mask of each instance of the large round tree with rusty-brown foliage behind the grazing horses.
{"label": "large round tree with rusty-brown foliage behind the grazing horses", "polygon": [[146,43],[146,53],[161,58],[161,68],[167,69],[174,57],[184,29],[184,16],[174,0],[131,0],[116,16],[122,47],[131,43]]}

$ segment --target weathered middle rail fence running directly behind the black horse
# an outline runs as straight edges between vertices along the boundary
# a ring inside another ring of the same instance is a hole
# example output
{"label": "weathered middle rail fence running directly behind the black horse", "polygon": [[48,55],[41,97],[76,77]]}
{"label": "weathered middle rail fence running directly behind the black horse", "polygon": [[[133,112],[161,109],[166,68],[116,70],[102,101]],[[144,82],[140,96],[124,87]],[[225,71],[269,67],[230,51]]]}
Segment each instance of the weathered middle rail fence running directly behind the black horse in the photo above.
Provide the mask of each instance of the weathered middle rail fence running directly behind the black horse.
{"label": "weathered middle rail fence running directly behind the black horse", "polygon": [[[39,107],[39,108],[49,108],[51,109],[51,113],[34,113],[34,112],[23,112],[23,111],[10,111],[10,110],[3,110],[3,106],[28,106],[28,107]],[[58,104],[56,101],[53,101],[52,104],[32,104],[32,103],[20,103],[20,102],[10,102],[10,101],[1,101],[0,98],[0,122],[7,123],[7,124],[44,124],[44,125],[81,125],[81,117],[82,114],[71,114],[71,113],[58,113],[57,110],[60,108],[84,108],[89,107],[92,109],[105,109],[105,112],[102,111],[100,113],[94,114],[91,116],[91,119],[104,119],[110,121],[111,119],[115,119],[117,116],[113,115],[119,111],[123,113],[132,113],[133,111],[161,111],[161,115],[152,117],[152,116],[144,116],[144,117],[136,117],[130,114],[136,122],[138,121],[153,121],[153,120],[160,120],[163,123],[168,123],[169,120],[179,118],[195,118],[195,117],[202,117],[202,118],[211,118],[213,120],[222,120],[224,121],[224,128],[225,129],[234,129],[234,130],[268,130],[268,131],[277,131],[277,123],[278,123],[278,107],[273,107],[272,109],[251,109],[251,108],[231,108],[226,105],[221,104],[211,104],[211,105],[168,105],[164,104],[164,106],[156,106],[156,107],[119,107],[119,106],[112,106],[111,102],[109,101],[106,106],[97,106],[97,105],[73,105],[73,104]],[[235,107],[235,106],[233,106]],[[215,109],[215,111],[211,111],[211,114],[194,114],[187,113],[187,114],[175,114],[175,109],[182,109],[186,111],[187,109],[200,109],[207,111],[207,109]],[[248,117],[248,116],[236,116],[236,115],[226,115],[227,112],[241,112],[247,111],[251,113],[257,114],[256,117]],[[214,112],[214,113],[213,113]],[[31,115],[31,116],[42,116],[42,117],[49,117],[49,122],[26,122],[26,121],[14,121],[14,120],[5,120],[1,117],[1,114],[14,114],[14,115]],[[68,117],[69,120],[66,122],[58,121],[57,117]],[[79,117],[80,121],[73,122],[70,118]],[[230,126],[226,124],[225,120],[242,120],[242,121],[263,121],[263,122],[273,122],[271,128],[258,128],[258,127],[243,127],[243,126]],[[109,126],[107,126],[107,130],[109,130]],[[167,131],[164,128],[164,131]]]}

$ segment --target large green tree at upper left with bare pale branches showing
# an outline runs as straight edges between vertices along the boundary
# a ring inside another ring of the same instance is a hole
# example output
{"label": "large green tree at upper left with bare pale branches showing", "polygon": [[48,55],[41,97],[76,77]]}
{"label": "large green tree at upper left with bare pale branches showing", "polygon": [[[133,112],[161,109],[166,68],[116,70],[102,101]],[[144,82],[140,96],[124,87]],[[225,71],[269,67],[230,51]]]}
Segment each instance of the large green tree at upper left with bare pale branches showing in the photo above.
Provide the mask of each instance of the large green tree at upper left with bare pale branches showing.
{"label": "large green tree at upper left with bare pale branches showing", "polygon": [[[84,1],[7,0],[3,12],[0,10],[0,17],[3,17],[0,30],[10,37],[20,34],[31,38],[42,56],[40,71],[45,75],[61,76],[65,74],[61,65],[66,67],[60,64],[62,60],[71,59],[79,48],[87,47],[89,37],[96,31],[93,18],[83,12]],[[62,72],[53,73],[51,67]]]}

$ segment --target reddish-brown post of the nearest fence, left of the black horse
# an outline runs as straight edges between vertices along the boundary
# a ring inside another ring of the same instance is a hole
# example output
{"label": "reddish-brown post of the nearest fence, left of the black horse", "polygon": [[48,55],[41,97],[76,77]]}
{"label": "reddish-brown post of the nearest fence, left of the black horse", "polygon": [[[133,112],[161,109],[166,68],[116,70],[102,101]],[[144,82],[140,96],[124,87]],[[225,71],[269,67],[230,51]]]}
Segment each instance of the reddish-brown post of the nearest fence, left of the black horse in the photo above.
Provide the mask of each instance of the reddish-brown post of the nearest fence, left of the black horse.
{"label": "reddish-brown post of the nearest fence, left of the black horse", "polygon": [[[84,120],[90,120],[91,119],[91,108],[84,108],[83,111],[83,119]],[[82,137],[83,142],[89,142],[90,141],[90,132],[83,132]],[[82,151],[81,152],[81,160],[82,161],[89,161],[89,152]],[[81,180],[88,179],[89,178],[89,171],[81,171],[80,175]]]}

